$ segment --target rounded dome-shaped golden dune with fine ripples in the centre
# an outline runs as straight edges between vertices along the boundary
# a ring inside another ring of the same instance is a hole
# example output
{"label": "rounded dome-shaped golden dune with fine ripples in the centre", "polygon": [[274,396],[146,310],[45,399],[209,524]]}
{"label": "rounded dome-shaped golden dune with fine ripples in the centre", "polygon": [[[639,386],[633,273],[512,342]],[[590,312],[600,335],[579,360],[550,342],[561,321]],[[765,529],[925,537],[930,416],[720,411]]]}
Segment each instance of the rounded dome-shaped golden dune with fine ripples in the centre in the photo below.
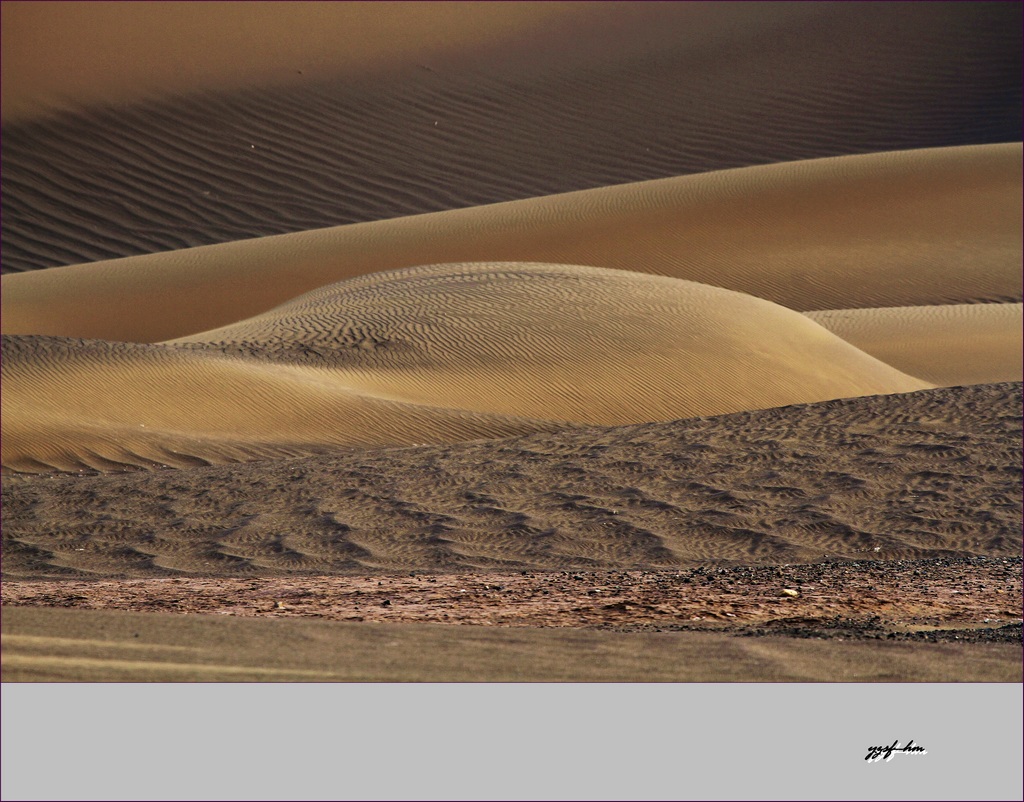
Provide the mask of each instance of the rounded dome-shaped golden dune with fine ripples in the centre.
{"label": "rounded dome-shaped golden dune with fine ripples in the centre", "polygon": [[484,262],[373,273],[172,342],[311,351],[373,392],[598,424],[927,386],[805,320],[693,282]]}

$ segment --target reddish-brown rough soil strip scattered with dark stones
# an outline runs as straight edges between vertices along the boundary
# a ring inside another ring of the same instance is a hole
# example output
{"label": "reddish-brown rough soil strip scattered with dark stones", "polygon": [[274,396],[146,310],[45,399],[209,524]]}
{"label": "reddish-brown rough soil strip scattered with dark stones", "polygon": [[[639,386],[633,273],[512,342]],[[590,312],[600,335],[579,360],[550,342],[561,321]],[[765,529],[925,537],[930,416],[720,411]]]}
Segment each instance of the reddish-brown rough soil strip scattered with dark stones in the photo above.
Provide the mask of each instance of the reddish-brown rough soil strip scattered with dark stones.
{"label": "reddish-brown rough soil strip scattered with dark stones", "polygon": [[15,581],[5,605],[335,621],[725,630],[797,637],[1021,638],[1020,558],[685,572]]}

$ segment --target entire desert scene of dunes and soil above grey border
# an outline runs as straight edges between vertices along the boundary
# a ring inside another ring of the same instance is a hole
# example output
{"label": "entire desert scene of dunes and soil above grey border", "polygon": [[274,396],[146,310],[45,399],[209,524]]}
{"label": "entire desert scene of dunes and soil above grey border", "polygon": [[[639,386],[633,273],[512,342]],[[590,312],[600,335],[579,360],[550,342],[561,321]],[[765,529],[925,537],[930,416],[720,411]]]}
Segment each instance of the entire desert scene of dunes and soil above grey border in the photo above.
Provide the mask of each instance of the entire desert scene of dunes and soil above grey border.
{"label": "entire desert scene of dunes and soil above grey border", "polygon": [[4,681],[1019,682],[1019,4],[430,5],[4,3]]}

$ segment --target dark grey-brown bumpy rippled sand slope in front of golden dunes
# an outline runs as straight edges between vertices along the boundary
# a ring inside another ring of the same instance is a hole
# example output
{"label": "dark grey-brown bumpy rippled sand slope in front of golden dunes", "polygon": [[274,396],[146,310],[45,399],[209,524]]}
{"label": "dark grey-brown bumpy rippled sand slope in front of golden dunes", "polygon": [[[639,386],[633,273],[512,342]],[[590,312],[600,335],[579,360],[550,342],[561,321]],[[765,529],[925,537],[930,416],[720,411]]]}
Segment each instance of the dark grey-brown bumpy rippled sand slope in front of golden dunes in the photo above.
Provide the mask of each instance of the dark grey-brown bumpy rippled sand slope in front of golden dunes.
{"label": "dark grey-brown bumpy rippled sand slope in front of golden dunes", "polygon": [[1021,553],[1021,385],[187,471],[3,480],[6,577]]}

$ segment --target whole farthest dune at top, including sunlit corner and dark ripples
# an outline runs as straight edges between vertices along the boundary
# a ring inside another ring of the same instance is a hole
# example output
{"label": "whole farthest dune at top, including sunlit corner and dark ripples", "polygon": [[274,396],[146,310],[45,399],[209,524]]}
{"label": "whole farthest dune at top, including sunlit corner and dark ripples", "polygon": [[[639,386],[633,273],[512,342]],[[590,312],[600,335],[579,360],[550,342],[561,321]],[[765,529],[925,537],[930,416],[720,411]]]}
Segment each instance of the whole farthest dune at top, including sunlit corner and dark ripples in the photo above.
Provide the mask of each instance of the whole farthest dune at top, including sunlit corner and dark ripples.
{"label": "whole farthest dune at top, including sunlit corner and dark ripples", "polygon": [[[1015,2],[4,2],[3,15],[5,272],[1021,139]],[[54,105],[70,111],[33,119]]]}

